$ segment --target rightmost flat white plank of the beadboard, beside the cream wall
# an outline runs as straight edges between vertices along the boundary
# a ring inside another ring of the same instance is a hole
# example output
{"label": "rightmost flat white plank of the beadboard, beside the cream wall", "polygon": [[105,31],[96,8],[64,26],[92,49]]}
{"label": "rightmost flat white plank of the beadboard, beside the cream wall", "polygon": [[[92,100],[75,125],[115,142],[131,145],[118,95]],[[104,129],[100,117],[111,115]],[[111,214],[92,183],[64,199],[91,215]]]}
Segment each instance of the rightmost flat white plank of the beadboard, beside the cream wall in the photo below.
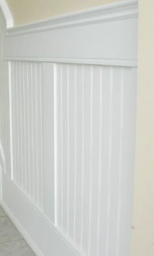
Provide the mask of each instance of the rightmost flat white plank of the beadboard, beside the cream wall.
{"label": "rightmost flat white plank of the beadboard, beside the cream wall", "polygon": [[[133,192],[133,166],[135,143],[135,115],[136,109],[136,70],[126,68],[123,71],[123,140],[121,153],[121,180],[119,184],[119,226],[117,255],[130,253],[131,240],[127,239],[128,230],[131,232],[132,205],[128,204]],[[130,140],[129,138],[132,137]],[[129,191],[129,192],[128,192]],[[125,219],[127,218],[127,222]],[[120,241],[123,241],[122,243]]]}

